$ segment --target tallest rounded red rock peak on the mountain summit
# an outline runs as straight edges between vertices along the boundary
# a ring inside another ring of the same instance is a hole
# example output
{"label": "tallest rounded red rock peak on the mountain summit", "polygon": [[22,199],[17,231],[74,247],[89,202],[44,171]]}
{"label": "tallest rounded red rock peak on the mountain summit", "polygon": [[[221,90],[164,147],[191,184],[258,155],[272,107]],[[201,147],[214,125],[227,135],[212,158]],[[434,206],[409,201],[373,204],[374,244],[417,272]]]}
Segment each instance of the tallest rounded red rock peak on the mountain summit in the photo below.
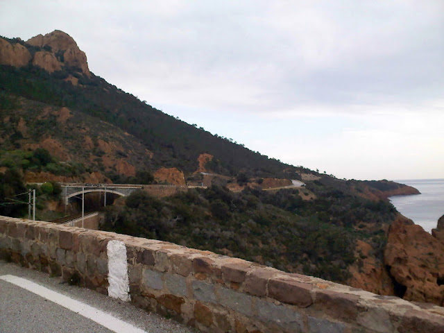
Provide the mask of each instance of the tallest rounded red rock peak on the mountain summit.
{"label": "tallest rounded red rock peak on the mountain summit", "polygon": [[[58,51],[65,51],[63,53],[63,62],[68,66],[76,66],[82,69],[83,74],[91,75],[88,68],[87,58],[85,52],[81,51],[76,41],[67,33],[60,30],[55,30],[46,35],[37,35],[27,40],[26,43],[33,46],[50,46],[52,53]],[[44,68],[42,65],[40,67]]]}

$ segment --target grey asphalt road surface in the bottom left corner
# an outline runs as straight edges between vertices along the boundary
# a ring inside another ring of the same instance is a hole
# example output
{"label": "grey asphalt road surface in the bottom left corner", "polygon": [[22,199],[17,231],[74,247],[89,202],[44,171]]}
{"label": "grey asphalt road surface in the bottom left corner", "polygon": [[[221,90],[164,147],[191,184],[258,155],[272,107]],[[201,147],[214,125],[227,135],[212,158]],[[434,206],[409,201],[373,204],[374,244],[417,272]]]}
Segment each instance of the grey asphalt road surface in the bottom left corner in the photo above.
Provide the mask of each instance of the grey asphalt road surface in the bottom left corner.
{"label": "grey asphalt road surface in the bottom left corner", "polygon": [[[9,279],[16,284],[3,279]],[[40,289],[42,296],[36,294]],[[56,300],[49,300],[51,295]],[[77,308],[67,309],[56,302],[67,307],[74,304]],[[79,307],[82,307],[83,311]],[[105,321],[111,328],[99,324],[100,318],[102,323]],[[143,331],[196,332],[175,321],[137,309],[129,303],[114,300],[89,289],[69,286],[60,278],[50,278],[47,274],[0,260],[0,333]]]}

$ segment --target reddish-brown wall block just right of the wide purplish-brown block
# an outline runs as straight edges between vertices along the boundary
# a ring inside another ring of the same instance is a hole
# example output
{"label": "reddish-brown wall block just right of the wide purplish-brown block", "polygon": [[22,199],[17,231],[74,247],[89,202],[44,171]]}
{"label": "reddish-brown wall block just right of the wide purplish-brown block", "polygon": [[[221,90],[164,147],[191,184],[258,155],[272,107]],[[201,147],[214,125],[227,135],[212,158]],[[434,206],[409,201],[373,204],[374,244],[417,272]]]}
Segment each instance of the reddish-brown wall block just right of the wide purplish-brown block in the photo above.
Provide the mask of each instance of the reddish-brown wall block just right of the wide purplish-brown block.
{"label": "reddish-brown wall block just right of the wide purplish-brown block", "polygon": [[330,290],[318,290],[315,298],[316,307],[326,314],[345,321],[356,321],[359,296]]}

